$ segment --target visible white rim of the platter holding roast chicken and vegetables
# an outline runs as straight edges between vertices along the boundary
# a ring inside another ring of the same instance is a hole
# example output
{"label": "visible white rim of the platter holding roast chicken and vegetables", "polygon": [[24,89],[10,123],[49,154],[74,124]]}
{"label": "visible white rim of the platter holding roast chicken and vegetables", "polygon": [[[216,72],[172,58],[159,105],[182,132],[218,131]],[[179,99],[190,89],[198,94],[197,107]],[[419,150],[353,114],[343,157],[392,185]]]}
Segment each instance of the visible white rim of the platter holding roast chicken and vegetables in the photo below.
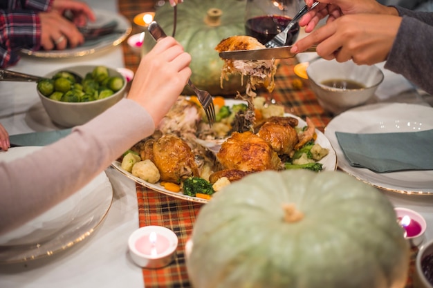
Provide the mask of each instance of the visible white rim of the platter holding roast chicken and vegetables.
{"label": "visible white rim of the platter holding roast chicken and vegetables", "polygon": [[[228,106],[232,106],[233,104],[237,104],[239,103],[239,100],[234,100],[234,99],[225,99],[225,105]],[[286,117],[295,117],[299,120],[299,124],[298,126],[303,127],[306,126],[306,122],[301,119],[300,117],[297,117],[295,115],[292,114],[285,114]],[[337,156],[335,154],[335,151],[333,150],[331,143],[329,142],[328,139],[326,139],[326,136],[320,132],[319,130],[316,129],[316,133],[317,133],[317,139],[316,139],[316,143],[320,144],[320,146],[322,146],[323,148],[328,148],[329,149],[329,154],[326,155],[326,157],[324,157],[322,160],[320,160],[319,162],[323,164],[323,171],[335,171],[337,169]],[[114,161],[111,163],[111,166],[113,166],[115,169],[117,169],[118,171],[120,171],[120,173],[126,175],[127,177],[131,178],[132,180],[134,180],[135,182],[137,182],[138,184],[145,186],[149,189],[153,189],[156,190],[160,193],[164,193],[166,195],[175,197],[175,198],[179,198],[179,199],[183,199],[183,200],[187,200],[187,201],[192,201],[192,202],[198,202],[198,203],[207,203],[209,202],[209,200],[205,200],[203,198],[197,198],[197,197],[192,197],[189,195],[184,195],[181,192],[175,193],[172,191],[168,191],[167,189],[165,189],[163,186],[161,186],[160,184],[156,183],[156,184],[151,184],[149,182],[146,182],[145,180],[141,180],[140,178],[132,175],[131,173],[129,173],[128,171],[125,171],[124,169],[122,169],[122,163],[118,162],[118,161]]]}

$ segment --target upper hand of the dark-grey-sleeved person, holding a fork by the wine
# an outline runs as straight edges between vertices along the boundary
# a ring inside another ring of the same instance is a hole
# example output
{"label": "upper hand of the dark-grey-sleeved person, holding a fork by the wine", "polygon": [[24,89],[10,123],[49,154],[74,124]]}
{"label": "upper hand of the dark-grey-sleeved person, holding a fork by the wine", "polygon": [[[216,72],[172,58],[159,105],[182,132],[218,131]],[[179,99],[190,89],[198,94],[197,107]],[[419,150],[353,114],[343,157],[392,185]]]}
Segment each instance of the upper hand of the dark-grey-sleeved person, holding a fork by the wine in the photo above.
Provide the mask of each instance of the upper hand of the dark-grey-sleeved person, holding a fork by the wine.
{"label": "upper hand of the dark-grey-sleeved person, holding a fork by the wine", "polygon": [[[311,6],[314,1],[315,0],[305,0],[305,3],[306,5]],[[300,26],[305,27],[305,32],[309,33],[313,31],[321,19],[327,16],[329,17],[326,20],[326,23],[329,23],[338,19],[342,15],[361,13],[398,16],[395,8],[383,6],[376,0],[321,0],[320,4],[317,5],[316,8],[302,17],[299,24]]]}

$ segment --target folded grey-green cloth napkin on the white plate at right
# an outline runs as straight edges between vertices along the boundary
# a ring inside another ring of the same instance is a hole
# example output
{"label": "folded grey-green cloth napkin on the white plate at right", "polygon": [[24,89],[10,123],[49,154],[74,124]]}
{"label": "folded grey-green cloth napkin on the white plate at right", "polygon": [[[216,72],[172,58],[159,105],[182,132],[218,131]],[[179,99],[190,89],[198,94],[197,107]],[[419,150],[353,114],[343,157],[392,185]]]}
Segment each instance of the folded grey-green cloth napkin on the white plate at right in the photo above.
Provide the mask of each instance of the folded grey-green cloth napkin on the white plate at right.
{"label": "folded grey-green cloth napkin on the white plate at right", "polygon": [[335,132],[335,136],[353,167],[378,173],[433,170],[433,129],[404,133]]}

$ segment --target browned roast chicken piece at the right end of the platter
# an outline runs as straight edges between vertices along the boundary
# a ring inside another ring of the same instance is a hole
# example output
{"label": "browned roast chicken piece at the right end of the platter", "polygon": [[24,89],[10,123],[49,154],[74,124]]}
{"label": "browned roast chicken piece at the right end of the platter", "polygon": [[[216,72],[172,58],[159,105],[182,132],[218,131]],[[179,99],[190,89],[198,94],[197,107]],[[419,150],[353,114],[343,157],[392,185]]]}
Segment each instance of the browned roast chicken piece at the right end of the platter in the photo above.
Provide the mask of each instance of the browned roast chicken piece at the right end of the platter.
{"label": "browned roast chicken piece at the right end of the platter", "polygon": [[278,155],[291,153],[298,142],[295,128],[273,122],[263,124],[257,136],[268,142]]}

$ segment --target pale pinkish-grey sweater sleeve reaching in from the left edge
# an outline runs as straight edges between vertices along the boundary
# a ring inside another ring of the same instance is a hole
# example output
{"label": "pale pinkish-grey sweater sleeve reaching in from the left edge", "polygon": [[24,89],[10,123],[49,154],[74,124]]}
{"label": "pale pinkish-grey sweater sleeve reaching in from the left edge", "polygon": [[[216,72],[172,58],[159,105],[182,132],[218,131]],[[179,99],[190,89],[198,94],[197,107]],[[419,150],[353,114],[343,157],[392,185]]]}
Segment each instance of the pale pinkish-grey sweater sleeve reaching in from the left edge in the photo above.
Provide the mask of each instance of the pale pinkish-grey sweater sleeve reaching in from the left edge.
{"label": "pale pinkish-grey sweater sleeve reaching in from the left edge", "polygon": [[0,162],[0,234],[68,198],[154,129],[145,109],[122,99],[62,140],[21,161]]}

